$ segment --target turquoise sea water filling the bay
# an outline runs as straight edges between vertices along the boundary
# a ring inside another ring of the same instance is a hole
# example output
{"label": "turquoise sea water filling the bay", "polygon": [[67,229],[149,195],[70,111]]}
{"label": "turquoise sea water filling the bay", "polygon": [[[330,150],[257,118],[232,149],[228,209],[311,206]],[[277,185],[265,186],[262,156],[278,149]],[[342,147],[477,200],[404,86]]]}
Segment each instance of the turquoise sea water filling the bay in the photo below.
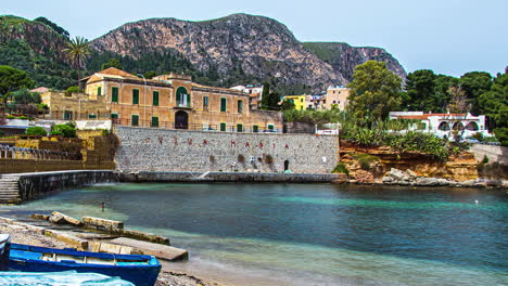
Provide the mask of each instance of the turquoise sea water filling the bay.
{"label": "turquoise sea water filling the bay", "polygon": [[278,285],[508,285],[508,195],[500,190],[112,184],[2,207],[3,216],[35,210],[167,235],[191,255],[175,268],[218,276]]}

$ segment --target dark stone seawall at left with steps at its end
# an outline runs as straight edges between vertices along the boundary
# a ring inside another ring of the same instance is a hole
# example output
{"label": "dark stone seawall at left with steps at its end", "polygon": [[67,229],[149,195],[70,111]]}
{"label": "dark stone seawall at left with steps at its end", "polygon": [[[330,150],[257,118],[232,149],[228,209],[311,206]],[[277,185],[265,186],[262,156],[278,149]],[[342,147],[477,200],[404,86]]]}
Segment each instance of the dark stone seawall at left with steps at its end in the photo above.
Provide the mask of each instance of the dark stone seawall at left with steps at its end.
{"label": "dark stone seawall at left with steps at its end", "polygon": [[[111,170],[3,174],[0,180],[0,188],[2,190],[0,204],[18,204],[51,192],[118,181],[119,173]],[[3,187],[2,183],[9,184],[9,187]]]}

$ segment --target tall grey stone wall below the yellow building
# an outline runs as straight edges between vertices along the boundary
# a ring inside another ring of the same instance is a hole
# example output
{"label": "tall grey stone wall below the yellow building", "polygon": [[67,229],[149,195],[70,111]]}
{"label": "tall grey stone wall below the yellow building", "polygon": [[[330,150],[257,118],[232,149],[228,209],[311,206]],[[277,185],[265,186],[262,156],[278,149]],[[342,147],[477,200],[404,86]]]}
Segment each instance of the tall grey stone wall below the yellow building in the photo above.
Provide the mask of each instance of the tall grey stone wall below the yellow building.
{"label": "tall grey stone wall below the yellow building", "polygon": [[122,171],[246,171],[328,173],[338,162],[336,136],[177,131],[115,126]]}

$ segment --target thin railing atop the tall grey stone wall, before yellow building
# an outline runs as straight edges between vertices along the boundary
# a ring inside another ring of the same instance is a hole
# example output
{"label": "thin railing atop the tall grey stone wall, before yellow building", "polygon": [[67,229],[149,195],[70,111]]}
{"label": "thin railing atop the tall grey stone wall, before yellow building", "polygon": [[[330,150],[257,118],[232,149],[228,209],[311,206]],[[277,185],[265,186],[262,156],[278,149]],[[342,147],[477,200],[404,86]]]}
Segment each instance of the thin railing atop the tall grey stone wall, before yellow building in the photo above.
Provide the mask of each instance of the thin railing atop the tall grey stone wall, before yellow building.
{"label": "thin railing atop the tall grey stone wall, before yellow building", "polygon": [[131,127],[143,127],[143,128],[158,128],[158,129],[172,129],[172,130],[198,130],[198,131],[211,131],[211,132],[241,132],[241,133],[281,133],[280,129],[254,129],[252,126],[242,126],[239,129],[237,126],[221,126],[221,125],[203,125],[203,123],[175,123],[170,121],[158,121],[152,122],[151,120],[131,120],[113,118],[114,125],[131,126]]}

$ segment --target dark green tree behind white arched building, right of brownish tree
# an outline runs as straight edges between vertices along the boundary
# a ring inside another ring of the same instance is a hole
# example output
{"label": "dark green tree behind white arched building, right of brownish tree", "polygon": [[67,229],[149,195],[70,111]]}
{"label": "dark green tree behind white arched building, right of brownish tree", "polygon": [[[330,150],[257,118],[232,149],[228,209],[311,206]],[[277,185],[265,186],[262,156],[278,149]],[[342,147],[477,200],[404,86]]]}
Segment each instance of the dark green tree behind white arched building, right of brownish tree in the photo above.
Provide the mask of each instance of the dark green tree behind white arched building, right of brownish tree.
{"label": "dark green tree behind white arched building, right of brownish tree", "polygon": [[460,88],[468,96],[470,112],[474,115],[485,113],[479,104],[480,95],[491,90],[492,76],[485,72],[471,72],[460,77]]}

